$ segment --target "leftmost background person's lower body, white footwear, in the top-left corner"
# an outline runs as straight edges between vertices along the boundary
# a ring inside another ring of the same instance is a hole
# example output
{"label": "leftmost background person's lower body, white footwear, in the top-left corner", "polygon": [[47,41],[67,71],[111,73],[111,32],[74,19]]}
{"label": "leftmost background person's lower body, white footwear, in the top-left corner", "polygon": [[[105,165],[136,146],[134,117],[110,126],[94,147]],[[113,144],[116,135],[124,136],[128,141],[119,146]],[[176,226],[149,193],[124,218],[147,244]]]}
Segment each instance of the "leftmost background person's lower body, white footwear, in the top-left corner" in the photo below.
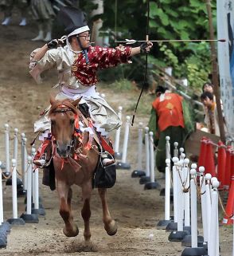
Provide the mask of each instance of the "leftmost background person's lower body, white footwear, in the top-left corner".
{"label": "leftmost background person's lower body, white footwear, in the top-left corner", "polygon": [[8,26],[10,24],[14,6],[18,6],[18,9],[21,12],[21,22],[19,23],[19,26],[27,25],[26,12],[29,6],[27,0],[0,0],[0,8],[4,12],[2,25]]}

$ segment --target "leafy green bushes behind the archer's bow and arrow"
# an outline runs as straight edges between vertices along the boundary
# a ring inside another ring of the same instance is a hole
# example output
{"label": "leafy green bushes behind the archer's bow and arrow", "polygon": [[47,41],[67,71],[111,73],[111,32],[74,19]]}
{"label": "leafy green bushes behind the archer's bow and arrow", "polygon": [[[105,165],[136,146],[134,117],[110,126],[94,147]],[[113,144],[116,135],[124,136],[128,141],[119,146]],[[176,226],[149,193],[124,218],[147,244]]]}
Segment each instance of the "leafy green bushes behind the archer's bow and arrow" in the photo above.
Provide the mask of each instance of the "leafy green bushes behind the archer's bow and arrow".
{"label": "leafy green bushes behind the archer's bow and arrow", "polygon": [[[115,6],[117,3],[117,6]],[[216,3],[213,8],[213,25],[216,27]],[[147,27],[146,0],[103,0],[103,31],[111,30],[111,46],[115,39],[134,38],[144,40]],[[89,13],[96,7],[92,2],[80,2],[80,7]],[[115,23],[116,21],[116,23]],[[201,0],[150,0],[150,39],[209,39],[209,20],[205,1]],[[135,46],[135,45],[134,45]],[[160,67],[172,66],[174,76],[187,77],[189,85],[196,90],[208,80],[211,70],[210,49],[206,43],[154,43],[148,62]],[[142,84],[144,58],[137,57],[133,65],[123,65],[115,71],[103,71],[102,79],[128,78]],[[154,72],[154,70],[153,70]]]}

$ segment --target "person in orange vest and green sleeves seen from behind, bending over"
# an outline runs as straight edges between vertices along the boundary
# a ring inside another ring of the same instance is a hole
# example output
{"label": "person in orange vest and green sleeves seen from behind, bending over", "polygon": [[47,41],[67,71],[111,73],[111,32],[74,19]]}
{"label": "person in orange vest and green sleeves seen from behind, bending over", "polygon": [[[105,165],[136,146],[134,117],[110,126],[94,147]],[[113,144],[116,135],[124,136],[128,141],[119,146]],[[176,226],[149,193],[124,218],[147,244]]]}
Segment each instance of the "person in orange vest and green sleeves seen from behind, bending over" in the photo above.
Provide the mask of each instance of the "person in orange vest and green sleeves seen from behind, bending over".
{"label": "person in orange vest and green sleeves seen from behind, bending over", "polygon": [[152,104],[149,128],[154,131],[154,144],[158,146],[156,167],[165,172],[166,168],[166,136],[170,136],[170,152],[174,150],[174,142],[178,148],[184,147],[186,137],[193,132],[194,122],[189,106],[177,93],[158,86],[156,99]]}

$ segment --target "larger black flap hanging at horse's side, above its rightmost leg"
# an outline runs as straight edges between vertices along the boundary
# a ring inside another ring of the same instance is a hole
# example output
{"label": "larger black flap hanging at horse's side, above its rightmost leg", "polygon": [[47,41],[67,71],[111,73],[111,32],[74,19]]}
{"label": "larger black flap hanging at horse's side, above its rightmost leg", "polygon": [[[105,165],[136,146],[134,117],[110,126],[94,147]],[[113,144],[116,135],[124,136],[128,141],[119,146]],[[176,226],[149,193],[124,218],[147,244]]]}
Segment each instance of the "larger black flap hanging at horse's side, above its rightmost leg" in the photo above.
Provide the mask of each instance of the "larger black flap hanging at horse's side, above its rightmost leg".
{"label": "larger black flap hanging at horse's side, above its rightmost leg", "polygon": [[107,167],[103,167],[99,161],[96,172],[93,178],[93,187],[96,188],[111,188],[115,185],[116,181],[116,165],[112,163]]}

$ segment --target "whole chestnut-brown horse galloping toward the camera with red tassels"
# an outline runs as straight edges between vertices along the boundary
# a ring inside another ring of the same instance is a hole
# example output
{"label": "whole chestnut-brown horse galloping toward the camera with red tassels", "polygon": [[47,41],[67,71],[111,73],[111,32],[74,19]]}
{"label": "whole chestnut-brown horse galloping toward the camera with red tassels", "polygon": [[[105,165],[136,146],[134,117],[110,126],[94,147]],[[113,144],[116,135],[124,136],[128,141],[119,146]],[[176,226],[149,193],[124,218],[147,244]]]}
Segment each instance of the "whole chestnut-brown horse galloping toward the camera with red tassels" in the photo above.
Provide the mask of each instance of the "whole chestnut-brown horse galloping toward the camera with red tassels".
{"label": "whole chestnut-brown horse galloping toward the camera with red tassels", "polygon": [[[84,239],[91,238],[89,219],[91,216],[90,199],[92,195],[92,179],[99,161],[98,144],[96,140],[90,140],[88,132],[76,134],[76,125],[81,115],[76,108],[78,100],[58,101],[50,99],[51,108],[49,117],[51,119],[51,132],[53,140],[53,165],[57,183],[57,193],[60,199],[60,215],[64,219],[64,234],[74,237],[79,233],[78,226],[73,222],[71,202],[73,184],[81,187],[83,208],[81,210],[84,219]],[[88,142],[91,144],[88,147]],[[76,157],[74,157],[76,156]],[[107,234],[114,235],[117,225],[111,219],[107,207],[107,189],[98,188],[103,207],[103,223]]]}

